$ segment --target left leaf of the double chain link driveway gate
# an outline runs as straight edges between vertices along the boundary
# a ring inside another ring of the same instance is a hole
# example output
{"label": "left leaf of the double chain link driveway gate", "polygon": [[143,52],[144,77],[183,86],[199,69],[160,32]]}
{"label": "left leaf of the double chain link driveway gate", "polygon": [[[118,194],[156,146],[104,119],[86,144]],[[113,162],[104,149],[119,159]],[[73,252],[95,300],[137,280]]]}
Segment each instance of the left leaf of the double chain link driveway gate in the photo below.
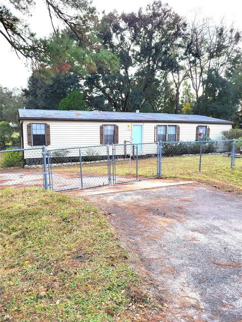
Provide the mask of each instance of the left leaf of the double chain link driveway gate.
{"label": "left leaf of the double chain link driveway gate", "polygon": [[54,191],[111,184],[108,147],[82,146],[47,152],[48,187]]}

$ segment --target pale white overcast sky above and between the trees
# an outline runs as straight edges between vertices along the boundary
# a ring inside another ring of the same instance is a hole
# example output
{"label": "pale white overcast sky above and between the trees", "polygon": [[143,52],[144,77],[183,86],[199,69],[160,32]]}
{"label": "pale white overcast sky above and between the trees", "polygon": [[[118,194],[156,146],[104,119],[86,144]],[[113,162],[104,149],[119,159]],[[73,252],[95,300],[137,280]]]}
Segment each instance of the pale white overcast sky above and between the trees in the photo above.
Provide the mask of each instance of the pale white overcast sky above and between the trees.
{"label": "pale white overcast sky above and between the trees", "polygon": [[[242,1],[241,0],[167,0],[164,1],[181,16],[192,19],[194,12],[201,12],[204,17],[211,17],[218,22],[223,17],[227,24],[234,23],[237,28],[242,30]],[[8,1],[1,1],[8,3]],[[37,6],[32,17],[29,19],[31,30],[38,36],[47,36],[51,31],[51,25],[48,19],[45,5],[42,0],[36,0]],[[140,7],[145,7],[150,1],[148,0],[93,0],[98,12],[112,11],[118,12],[137,11]],[[27,79],[31,74],[29,67],[25,65],[24,59],[19,59],[0,35],[0,85],[8,88],[26,87]]]}

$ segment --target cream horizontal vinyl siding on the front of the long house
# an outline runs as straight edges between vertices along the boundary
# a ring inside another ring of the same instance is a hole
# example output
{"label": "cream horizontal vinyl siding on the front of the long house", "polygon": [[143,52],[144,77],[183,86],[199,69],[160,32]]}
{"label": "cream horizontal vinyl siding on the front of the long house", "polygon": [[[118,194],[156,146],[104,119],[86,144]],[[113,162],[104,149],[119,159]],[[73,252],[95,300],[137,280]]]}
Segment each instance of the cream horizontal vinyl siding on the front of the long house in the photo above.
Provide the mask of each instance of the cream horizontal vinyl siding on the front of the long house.
{"label": "cream horizontal vinyl siding on the front of the long house", "polygon": [[[91,122],[91,121],[57,121],[57,120],[24,120],[23,137],[24,147],[30,148],[27,138],[28,123],[47,123],[50,125],[50,145],[48,147],[70,147],[100,144],[100,125],[118,125],[118,143],[132,141],[132,123],[129,122]],[[143,143],[154,142],[154,127],[156,125],[179,125],[180,141],[194,141],[196,138],[196,127],[207,125],[210,127],[210,138],[221,139],[222,131],[229,130],[230,124],[206,124],[206,123],[161,123],[144,122],[133,124],[143,125]]]}

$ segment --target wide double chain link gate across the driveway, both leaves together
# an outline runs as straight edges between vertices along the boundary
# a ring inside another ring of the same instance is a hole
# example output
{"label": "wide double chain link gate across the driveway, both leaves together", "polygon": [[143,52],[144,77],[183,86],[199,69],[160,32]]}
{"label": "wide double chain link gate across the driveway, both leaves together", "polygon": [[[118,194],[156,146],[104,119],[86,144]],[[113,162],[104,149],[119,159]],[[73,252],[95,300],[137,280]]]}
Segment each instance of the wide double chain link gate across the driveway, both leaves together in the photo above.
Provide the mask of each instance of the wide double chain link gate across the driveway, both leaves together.
{"label": "wide double chain link gate across the driveway, both leaves together", "polygon": [[45,189],[87,189],[157,177],[157,143],[44,147],[43,151]]}

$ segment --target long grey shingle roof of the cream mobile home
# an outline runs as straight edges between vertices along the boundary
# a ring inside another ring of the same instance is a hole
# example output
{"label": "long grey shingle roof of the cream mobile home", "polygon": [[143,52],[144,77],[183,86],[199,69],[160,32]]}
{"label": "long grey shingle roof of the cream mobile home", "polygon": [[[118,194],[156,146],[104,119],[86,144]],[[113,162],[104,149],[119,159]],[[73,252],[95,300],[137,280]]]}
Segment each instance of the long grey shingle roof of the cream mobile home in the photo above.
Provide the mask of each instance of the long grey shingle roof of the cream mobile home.
{"label": "long grey shingle roof of the cream mobile home", "polygon": [[202,115],[166,114],[166,113],[126,113],[102,111],[54,111],[19,109],[20,119],[40,120],[80,120],[80,121],[116,121],[116,122],[192,122],[192,123],[232,123]]}

